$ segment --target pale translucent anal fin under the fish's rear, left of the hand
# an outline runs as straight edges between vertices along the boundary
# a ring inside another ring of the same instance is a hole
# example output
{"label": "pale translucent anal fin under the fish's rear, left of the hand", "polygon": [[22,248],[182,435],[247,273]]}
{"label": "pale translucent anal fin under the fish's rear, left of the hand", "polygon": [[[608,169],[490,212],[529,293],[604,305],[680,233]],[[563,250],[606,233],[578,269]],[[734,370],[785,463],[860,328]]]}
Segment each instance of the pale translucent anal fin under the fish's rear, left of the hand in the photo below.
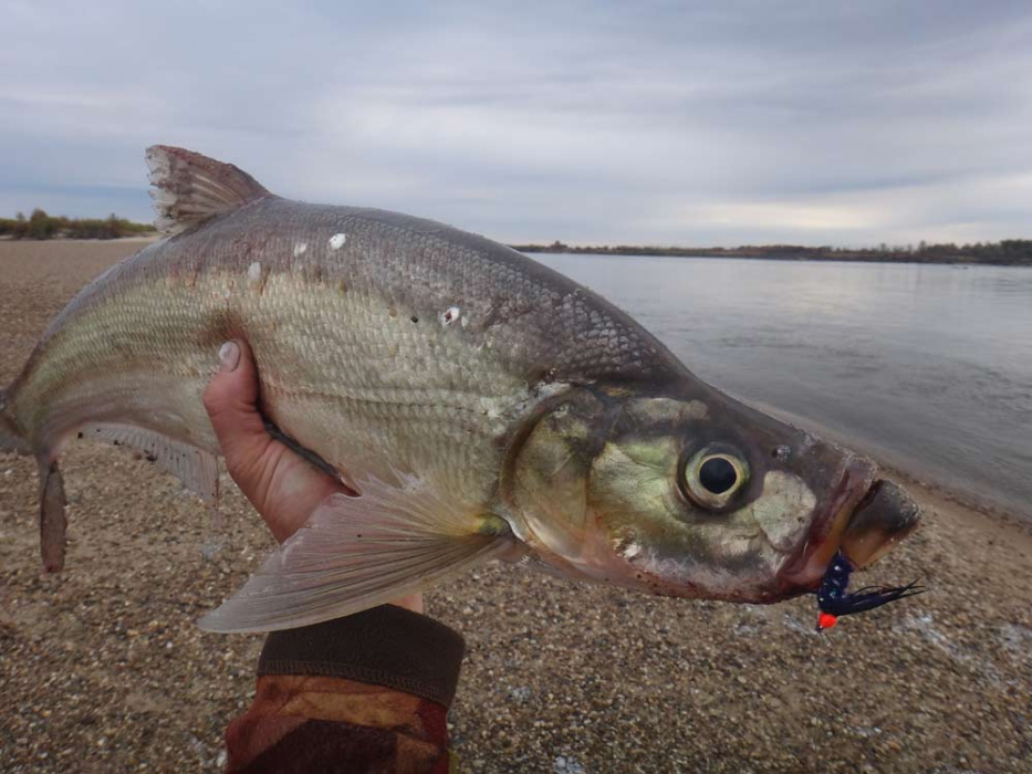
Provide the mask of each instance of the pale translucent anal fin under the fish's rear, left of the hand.
{"label": "pale translucent anal fin under the fish's rear, left of the hand", "polygon": [[87,425],[81,437],[127,446],[139,451],[183,485],[215,506],[219,498],[219,463],[211,452],[133,425]]}

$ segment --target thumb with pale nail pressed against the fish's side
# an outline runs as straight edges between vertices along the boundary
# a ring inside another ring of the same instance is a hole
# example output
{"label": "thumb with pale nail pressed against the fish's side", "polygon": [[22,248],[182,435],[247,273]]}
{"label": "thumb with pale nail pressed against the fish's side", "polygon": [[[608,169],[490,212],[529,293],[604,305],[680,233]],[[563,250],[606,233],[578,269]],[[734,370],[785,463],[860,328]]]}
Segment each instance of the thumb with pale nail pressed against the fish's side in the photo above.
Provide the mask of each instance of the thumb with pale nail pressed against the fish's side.
{"label": "thumb with pale nail pressed against the fish's side", "polygon": [[258,410],[258,372],[244,342],[219,348],[219,372],[204,401],[229,474],[244,492],[261,489],[273,441]]}

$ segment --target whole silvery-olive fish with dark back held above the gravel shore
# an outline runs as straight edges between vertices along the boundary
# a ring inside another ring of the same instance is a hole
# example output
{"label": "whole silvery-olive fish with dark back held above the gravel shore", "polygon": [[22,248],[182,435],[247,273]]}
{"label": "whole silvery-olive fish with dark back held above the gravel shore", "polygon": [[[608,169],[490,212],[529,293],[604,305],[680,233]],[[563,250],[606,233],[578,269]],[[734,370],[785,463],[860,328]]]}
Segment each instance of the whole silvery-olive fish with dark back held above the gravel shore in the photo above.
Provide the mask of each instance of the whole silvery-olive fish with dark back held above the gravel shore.
{"label": "whole silvery-olive fish with dark back held above the gravel shore", "polygon": [[46,571],[64,566],[60,458],[75,438],[135,449],[217,508],[201,396],[233,338],[270,431],[353,495],[322,502],[208,630],[319,623],[494,558],[774,603],[814,590],[838,552],[868,565],[920,520],[872,460],[721,393],[510,248],[291,201],[183,148],[146,158],[165,236],[83,289],[0,393],[0,450],[37,460]]}

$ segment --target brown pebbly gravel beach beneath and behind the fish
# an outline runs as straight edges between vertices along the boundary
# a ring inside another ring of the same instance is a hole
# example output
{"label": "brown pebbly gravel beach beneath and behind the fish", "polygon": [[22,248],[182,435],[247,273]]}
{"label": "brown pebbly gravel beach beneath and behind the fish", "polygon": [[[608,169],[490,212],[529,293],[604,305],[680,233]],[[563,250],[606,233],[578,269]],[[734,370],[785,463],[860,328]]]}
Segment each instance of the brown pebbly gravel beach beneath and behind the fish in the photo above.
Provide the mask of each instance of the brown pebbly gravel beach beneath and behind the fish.
{"label": "brown pebbly gravel beach beneath and behind the fish", "polygon": [[[0,385],[138,248],[0,241]],[[63,467],[67,565],[41,576],[34,463],[0,454],[0,772],[219,771],[262,638],[194,620],[271,538],[225,477],[209,561],[205,510],[171,477],[85,441]],[[467,639],[461,771],[1030,771],[1032,529],[911,491],[924,526],[862,577],[929,593],[825,635],[812,597],[658,599],[499,564],[435,588],[428,613]]]}

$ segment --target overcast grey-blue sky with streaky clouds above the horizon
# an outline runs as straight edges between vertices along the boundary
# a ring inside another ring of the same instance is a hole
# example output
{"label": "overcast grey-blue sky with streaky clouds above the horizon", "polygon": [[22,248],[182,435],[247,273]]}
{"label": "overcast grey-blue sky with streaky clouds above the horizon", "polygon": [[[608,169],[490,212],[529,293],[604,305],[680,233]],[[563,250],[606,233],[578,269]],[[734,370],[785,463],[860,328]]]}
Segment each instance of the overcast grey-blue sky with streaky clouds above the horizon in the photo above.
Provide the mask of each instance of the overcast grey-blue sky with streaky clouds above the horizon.
{"label": "overcast grey-blue sky with streaky clouds above the horizon", "polygon": [[144,149],[507,242],[1032,238],[1032,4],[0,0],[0,216]]}

